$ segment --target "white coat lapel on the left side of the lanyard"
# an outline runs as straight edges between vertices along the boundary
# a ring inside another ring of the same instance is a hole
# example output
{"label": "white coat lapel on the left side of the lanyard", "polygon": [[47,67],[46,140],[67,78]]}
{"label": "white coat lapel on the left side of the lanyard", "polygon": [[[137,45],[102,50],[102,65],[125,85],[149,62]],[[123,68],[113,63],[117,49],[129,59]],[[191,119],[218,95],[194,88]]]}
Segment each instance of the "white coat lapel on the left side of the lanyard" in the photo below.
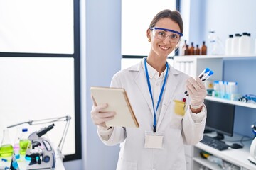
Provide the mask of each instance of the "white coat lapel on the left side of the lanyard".
{"label": "white coat lapel on the left side of the lanyard", "polygon": [[142,95],[143,95],[146,103],[148,104],[152,115],[154,115],[151,96],[149,94],[149,88],[148,88],[147,81],[146,81],[146,75],[145,75],[145,72],[144,72],[144,69],[142,66],[139,67],[139,72],[137,74],[137,77],[135,77],[134,81],[137,84],[139,90],[142,91]]}

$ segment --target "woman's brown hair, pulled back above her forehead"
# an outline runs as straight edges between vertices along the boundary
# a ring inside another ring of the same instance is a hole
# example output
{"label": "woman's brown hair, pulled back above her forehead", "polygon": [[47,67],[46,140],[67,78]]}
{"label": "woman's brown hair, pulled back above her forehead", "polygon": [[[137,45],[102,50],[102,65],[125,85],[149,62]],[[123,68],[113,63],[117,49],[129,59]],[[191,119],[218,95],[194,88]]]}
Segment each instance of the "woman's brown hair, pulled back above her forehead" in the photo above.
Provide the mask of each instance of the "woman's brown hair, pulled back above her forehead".
{"label": "woman's brown hair, pulled back above her forehead", "polygon": [[153,20],[151,21],[149,28],[154,27],[162,18],[170,18],[172,21],[178,23],[179,28],[181,29],[181,33],[183,33],[183,21],[181,18],[181,14],[178,11],[171,11],[169,9],[165,9],[160,11],[159,13],[154,16]]}

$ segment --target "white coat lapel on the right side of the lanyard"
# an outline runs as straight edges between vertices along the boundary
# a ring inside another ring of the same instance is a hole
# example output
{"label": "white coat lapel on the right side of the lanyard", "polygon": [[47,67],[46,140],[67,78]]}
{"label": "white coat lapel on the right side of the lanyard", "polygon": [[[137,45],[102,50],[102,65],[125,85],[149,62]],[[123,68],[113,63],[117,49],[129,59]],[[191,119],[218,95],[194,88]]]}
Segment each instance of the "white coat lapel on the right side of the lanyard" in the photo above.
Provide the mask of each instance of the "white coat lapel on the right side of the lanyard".
{"label": "white coat lapel on the right side of the lanyard", "polygon": [[168,108],[169,104],[171,103],[171,98],[174,98],[174,91],[175,91],[176,87],[178,86],[178,80],[176,79],[176,74],[178,74],[178,72],[176,72],[176,70],[174,70],[172,67],[170,67],[169,76],[168,76],[165,91],[164,91],[164,98],[162,98],[163,105],[162,105],[161,112],[159,115],[159,120],[157,122],[158,126],[161,124],[161,121],[164,118],[164,114],[166,113],[167,108]]}

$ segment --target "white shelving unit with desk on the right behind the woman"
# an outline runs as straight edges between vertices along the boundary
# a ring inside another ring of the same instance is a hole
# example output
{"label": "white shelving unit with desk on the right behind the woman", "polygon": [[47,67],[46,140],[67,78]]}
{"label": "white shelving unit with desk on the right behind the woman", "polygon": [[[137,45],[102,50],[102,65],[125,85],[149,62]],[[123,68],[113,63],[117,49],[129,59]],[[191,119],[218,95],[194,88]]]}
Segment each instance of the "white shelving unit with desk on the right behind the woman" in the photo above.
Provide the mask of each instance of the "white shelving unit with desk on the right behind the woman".
{"label": "white shelving unit with desk on the right behind the woman", "polygon": [[[174,67],[176,69],[181,70],[182,72],[186,72],[186,74],[191,75],[191,77],[198,76],[198,74],[200,74],[203,71],[203,69],[208,67],[214,71],[214,76],[210,77],[210,79],[214,81],[214,80],[223,80],[223,75],[225,70],[224,68],[225,60],[241,60],[242,61],[247,59],[252,59],[253,61],[255,61],[256,55],[177,56],[177,57],[174,57]],[[255,69],[255,68],[250,68],[250,69]],[[249,74],[252,74],[252,72],[249,72]],[[240,76],[240,75],[234,75],[234,77],[235,76]],[[254,94],[254,92],[255,91],[252,91],[252,94]],[[246,108],[253,108],[253,109],[256,108],[256,104],[254,103],[228,101],[226,99],[214,98],[211,96],[207,96],[206,99],[211,101],[230,103],[235,106],[242,106]],[[225,140],[227,141],[235,141],[238,139],[241,139],[239,135],[234,135],[234,137],[225,137]],[[188,162],[187,167],[188,169],[191,169],[191,170],[200,169],[201,166],[206,166],[208,167],[208,169],[213,169],[213,170],[221,169],[220,166],[218,166],[217,164],[209,162],[207,159],[201,158],[200,152],[205,151],[210,154],[213,154],[215,157],[219,157],[220,159],[223,159],[223,161],[225,162],[233,164],[236,169],[241,169],[241,170],[256,169],[256,165],[250,163],[247,160],[247,157],[249,156],[251,142],[252,140],[243,142],[245,147],[243,147],[242,149],[227,149],[224,151],[218,151],[217,149],[213,149],[212,147],[208,147],[207,145],[203,145],[202,143],[198,143],[195,146],[186,146],[186,159]]]}

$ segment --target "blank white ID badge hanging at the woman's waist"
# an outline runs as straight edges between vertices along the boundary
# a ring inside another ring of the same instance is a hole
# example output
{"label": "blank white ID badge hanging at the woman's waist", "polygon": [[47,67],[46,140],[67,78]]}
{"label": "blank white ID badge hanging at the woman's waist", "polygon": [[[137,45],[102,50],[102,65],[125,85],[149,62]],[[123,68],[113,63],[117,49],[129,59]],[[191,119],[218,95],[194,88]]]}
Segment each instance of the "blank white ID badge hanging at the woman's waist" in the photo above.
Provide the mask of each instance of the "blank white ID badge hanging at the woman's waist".
{"label": "blank white ID badge hanging at the woman's waist", "polygon": [[161,132],[145,132],[145,148],[163,149],[164,135]]}

